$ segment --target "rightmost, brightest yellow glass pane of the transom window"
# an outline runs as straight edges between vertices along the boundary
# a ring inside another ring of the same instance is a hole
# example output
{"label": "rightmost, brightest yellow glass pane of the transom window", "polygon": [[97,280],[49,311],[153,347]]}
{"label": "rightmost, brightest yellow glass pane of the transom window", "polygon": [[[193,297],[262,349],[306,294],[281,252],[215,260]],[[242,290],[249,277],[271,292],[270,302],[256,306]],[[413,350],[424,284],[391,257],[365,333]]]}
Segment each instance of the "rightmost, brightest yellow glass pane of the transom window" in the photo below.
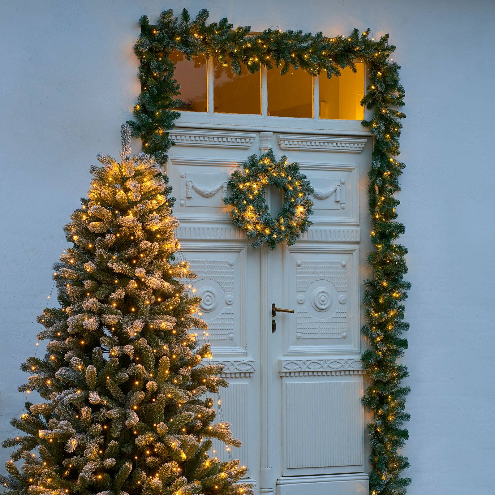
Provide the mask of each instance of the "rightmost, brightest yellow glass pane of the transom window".
{"label": "rightmost, brightest yellow glass pane of the transom window", "polygon": [[320,119],[362,120],[364,96],[364,64],[356,63],[357,72],[350,67],[341,69],[340,76],[328,79],[326,71],[320,78]]}

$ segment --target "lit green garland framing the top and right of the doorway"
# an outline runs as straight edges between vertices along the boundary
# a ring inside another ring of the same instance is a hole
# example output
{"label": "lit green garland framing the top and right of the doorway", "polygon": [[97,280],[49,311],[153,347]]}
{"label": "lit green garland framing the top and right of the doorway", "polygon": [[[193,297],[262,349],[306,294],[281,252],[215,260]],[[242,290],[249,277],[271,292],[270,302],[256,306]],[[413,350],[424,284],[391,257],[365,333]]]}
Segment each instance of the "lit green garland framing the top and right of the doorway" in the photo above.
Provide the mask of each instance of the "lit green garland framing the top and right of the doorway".
{"label": "lit green garland framing the top and right of the doorway", "polygon": [[267,29],[249,36],[250,27],[233,29],[227,19],[207,23],[208,12],[201,10],[191,19],[187,10],[176,18],[172,10],[160,14],[155,25],[148,17],[141,18],[141,36],[135,52],[141,62],[139,78],[142,92],[134,107],[136,121],[130,121],[133,134],[143,140],[147,152],[154,154],[158,163],[167,161],[167,150],[173,145],[168,131],[174,126],[180,104],[179,85],[174,80],[174,64],[169,55],[182,51],[187,58],[199,54],[209,58],[230,60],[234,72],[241,65],[250,72],[261,66],[281,67],[285,74],[290,68],[303,69],[312,76],[326,70],[328,77],[340,75],[340,69],[351,67],[354,61],[363,61],[368,69],[368,86],[362,99],[373,118],[363,126],[374,136],[372,163],[369,171],[369,214],[372,221],[373,252],[368,262],[374,278],[365,282],[363,303],[366,324],[362,333],[370,348],[361,360],[369,379],[363,404],[373,412],[373,421],[367,426],[371,455],[371,495],[400,495],[410,479],[402,477],[408,467],[407,457],[398,449],[404,445],[408,433],[403,422],[409,419],[404,411],[408,387],[401,386],[407,377],[407,368],[398,364],[407,341],[401,334],[408,329],[403,321],[404,306],[410,284],[404,281],[407,272],[404,255],[407,249],[397,244],[404,226],[396,221],[399,201],[394,197],[400,190],[398,178],[404,164],[399,154],[400,111],[404,104],[404,90],[399,83],[399,66],[390,60],[395,47],[388,44],[389,36],[378,41],[371,38],[370,30],[354,29],[350,36],[327,38],[316,33]]}

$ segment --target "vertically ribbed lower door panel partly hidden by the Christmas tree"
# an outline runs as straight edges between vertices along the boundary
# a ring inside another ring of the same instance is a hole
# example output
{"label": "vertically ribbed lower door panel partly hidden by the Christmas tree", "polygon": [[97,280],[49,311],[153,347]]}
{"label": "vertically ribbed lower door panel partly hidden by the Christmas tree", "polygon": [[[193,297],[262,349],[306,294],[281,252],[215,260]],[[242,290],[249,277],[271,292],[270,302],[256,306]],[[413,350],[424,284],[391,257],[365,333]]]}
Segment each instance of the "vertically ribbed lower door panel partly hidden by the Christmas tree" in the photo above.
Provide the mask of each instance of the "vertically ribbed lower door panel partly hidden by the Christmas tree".
{"label": "vertically ribbed lower door panel partly hidden by the Christmas tree", "polygon": [[[241,466],[249,467],[249,435],[247,425],[247,396],[249,392],[249,385],[247,383],[236,383],[230,381],[229,386],[226,389],[220,389],[220,398],[222,406],[222,418],[223,421],[232,423],[232,435],[234,438],[239,439],[243,445],[238,447],[230,447],[230,452],[233,459],[239,459]],[[218,400],[218,396],[213,395],[214,400]],[[220,412],[217,404],[214,404],[217,410],[216,422],[220,423]],[[226,445],[218,440],[213,440],[213,449],[216,450],[216,454],[212,454],[212,457],[217,456],[220,460],[229,460],[229,454],[225,450]],[[212,452],[210,452],[212,453]]]}

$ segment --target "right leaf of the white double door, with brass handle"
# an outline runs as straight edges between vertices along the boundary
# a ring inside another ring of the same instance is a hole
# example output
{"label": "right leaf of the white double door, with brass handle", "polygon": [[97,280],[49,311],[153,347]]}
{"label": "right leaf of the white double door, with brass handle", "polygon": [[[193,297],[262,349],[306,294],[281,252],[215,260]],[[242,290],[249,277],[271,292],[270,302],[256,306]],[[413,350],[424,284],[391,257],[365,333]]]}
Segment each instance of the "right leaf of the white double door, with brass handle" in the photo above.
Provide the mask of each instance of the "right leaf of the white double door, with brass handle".
{"label": "right leaf of the white double door, with brass handle", "polygon": [[[275,155],[287,153],[290,161],[298,162],[315,192],[308,233],[294,246],[267,254],[272,274],[281,274],[267,277],[273,302],[295,309],[293,315],[275,316],[280,333],[272,338],[268,357],[269,363],[278,360],[270,409],[281,422],[280,438],[270,433],[273,446],[280,442],[281,447],[270,462],[279,473],[279,493],[297,486],[297,480],[313,479],[314,487],[305,482],[300,487],[312,493],[326,486],[324,493],[340,495],[356,481],[362,486],[358,473],[366,471],[359,356],[365,276],[361,252],[368,241],[361,242],[360,229],[367,227],[363,193],[371,143],[275,136]],[[335,483],[335,477],[344,475],[349,478]]]}

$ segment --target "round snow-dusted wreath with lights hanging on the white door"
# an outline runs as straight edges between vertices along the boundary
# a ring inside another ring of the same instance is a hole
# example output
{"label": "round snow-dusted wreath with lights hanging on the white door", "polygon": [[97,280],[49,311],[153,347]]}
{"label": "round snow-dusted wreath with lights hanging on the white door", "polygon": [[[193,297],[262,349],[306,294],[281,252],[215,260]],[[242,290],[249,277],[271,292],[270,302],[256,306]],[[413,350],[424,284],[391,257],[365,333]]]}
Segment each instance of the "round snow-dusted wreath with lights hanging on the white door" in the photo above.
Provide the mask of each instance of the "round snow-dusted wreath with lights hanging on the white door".
{"label": "round snow-dusted wreath with lights hanging on the white door", "polygon": [[[311,225],[308,217],[313,213],[313,188],[309,180],[299,172],[297,163],[290,163],[287,156],[277,161],[271,149],[260,157],[249,156],[242,168],[229,177],[232,196],[224,199],[232,206],[232,222],[254,238],[254,248],[266,243],[276,249],[281,242],[292,246]],[[266,186],[284,192],[282,208],[275,218],[265,200]]]}

